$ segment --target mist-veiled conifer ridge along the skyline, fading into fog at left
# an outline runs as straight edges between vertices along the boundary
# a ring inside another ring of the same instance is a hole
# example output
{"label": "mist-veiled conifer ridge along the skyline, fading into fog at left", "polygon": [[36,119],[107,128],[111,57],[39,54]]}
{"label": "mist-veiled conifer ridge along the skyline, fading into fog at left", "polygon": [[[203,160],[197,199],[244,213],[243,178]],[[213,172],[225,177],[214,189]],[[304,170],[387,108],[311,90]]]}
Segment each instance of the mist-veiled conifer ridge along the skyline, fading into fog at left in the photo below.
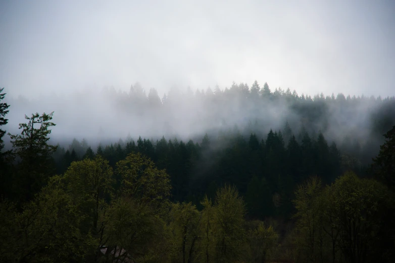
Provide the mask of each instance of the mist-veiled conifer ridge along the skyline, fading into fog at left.
{"label": "mist-veiled conifer ridge along the skyline, fading into fog at left", "polygon": [[127,116],[140,112],[142,121],[154,116],[156,122],[164,120],[166,128],[160,125],[159,128],[168,136],[179,134],[177,129],[185,128],[179,123],[186,123],[193,130],[201,130],[202,126],[226,129],[238,124],[245,127],[243,135],[255,133],[260,137],[270,127],[280,128],[285,115],[295,131],[300,131],[302,126],[309,134],[320,130],[330,140],[337,140],[342,151],[364,162],[371,160],[372,150],[378,151],[381,135],[392,127],[395,114],[395,97],[346,97],[342,93],[337,96],[321,93],[312,97],[298,95],[289,88],[272,91],[267,83],[260,87],[257,81],[251,87],[233,82],[229,88],[221,90],[216,86],[214,91],[210,87],[195,92],[188,88],[182,93],[174,88],[162,101],[155,89],[150,89],[146,96],[136,83],[129,93],[110,89],[106,97],[112,98],[114,105]]}

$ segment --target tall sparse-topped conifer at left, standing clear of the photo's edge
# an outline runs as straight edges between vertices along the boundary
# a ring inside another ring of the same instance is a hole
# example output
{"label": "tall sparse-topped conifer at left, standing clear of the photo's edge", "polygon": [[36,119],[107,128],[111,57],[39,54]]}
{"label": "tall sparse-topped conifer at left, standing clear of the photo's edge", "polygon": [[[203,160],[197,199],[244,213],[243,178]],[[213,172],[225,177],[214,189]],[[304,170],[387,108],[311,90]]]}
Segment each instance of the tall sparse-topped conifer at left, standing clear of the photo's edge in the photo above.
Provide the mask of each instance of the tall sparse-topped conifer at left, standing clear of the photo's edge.
{"label": "tall sparse-topped conifer at left, standing clear of the photo's edge", "polygon": [[51,129],[48,128],[56,125],[51,122],[53,114],[54,112],[42,115],[35,113],[31,117],[25,115],[29,122],[19,124],[21,135],[9,134],[15,154],[21,159],[17,184],[19,191],[24,193],[24,201],[31,200],[53,173],[51,158],[57,146],[47,144],[50,140],[48,135],[51,134]]}

